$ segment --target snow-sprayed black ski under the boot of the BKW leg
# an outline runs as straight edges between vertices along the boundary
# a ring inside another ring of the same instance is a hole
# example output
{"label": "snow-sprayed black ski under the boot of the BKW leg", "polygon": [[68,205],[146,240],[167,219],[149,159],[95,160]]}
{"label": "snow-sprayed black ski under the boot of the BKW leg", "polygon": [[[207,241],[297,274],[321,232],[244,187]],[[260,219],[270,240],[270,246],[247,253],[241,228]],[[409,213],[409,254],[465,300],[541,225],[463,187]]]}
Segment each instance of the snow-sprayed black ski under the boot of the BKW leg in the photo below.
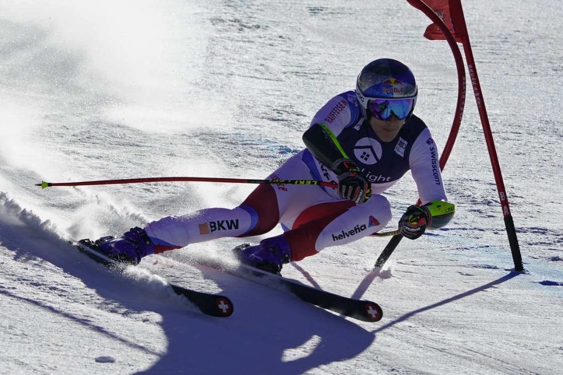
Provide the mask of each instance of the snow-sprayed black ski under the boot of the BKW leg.
{"label": "snow-sprayed black ski under the boot of the BKW leg", "polygon": [[[75,246],[77,247],[78,251],[84,253],[92,260],[112,269],[123,270],[124,266],[127,265],[124,262],[110,258],[104,253],[100,252],[99,246],[95,242],[92,242],[90,239],[79,240],[78,243],[75,244]],[[224,318],[233,314],[233,302],[231,302],[231,300],[229,300],[229,298],[225,296],[198,292],[171,283],[168,283],[168,286],[179,296],[187,298],[187,300],[198,307],[198,309],[201,310],[204,314],[217,316],[219,318]]]}

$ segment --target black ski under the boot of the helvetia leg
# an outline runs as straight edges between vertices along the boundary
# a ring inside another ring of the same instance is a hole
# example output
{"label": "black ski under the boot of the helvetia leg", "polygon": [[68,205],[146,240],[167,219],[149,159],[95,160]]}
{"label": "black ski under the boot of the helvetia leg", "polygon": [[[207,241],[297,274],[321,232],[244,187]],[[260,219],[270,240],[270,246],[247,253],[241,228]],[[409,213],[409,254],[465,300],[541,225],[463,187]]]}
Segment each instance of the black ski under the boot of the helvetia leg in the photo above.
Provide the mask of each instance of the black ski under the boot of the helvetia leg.
{"label": "black ski under the boot of the helvetia leg", "polygon": [[283,276],[268,273],[244,264],[227,264],[221,260],[193,259],[194,262],[211,267],[225,273],[250,280],[266,287],[288,292],[301,300],[312,305],[322,307],[325,310],[337,312],[350,318],[362,320],[363,322],[378,322],[383,316],[381,307],[372,301],[356,300],[340,296],[338,294],[316,289],[302,284],[297,280],[284,278]]}

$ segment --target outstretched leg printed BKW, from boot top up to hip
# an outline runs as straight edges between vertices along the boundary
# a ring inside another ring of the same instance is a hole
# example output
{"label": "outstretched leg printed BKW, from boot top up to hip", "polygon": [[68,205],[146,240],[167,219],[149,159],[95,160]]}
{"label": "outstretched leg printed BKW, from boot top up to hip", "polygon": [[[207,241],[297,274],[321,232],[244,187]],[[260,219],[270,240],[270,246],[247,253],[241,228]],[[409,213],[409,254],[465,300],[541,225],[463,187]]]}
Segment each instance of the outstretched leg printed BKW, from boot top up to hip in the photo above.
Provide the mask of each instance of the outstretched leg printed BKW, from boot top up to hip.
{"label": "outstretched leg printed BKW, from boot top up to hip", "polygon": [[[300,155],[289,158],[269,177],[274,180],[310,180]],[[223,237],[261,235],[280,220],[291,223],[307,207],[334,201],[316,185],[260,185],[236,208],[207,208],[185,216],[164,217],[145,227],[157,253]],[[291,224],[288,224],[291,225]]]}

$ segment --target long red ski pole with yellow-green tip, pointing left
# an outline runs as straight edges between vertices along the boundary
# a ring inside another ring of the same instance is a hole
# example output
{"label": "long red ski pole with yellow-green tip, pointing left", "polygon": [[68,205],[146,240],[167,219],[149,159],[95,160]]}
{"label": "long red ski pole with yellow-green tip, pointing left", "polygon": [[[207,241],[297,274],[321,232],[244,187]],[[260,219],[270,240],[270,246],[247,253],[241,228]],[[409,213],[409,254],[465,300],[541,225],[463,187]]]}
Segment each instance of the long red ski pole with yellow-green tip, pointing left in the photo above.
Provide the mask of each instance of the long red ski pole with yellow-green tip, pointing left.
{"label": "long red ski pole with yellow-green tip, pointing left", "polygon": [[149,177],[149,178],[127,178],[124,180],[99,180],[80,182],[45,182],[35,184],[42,189],[51,186],[84,186],[84,185],[113,185],[113,184],[138,184],[141,182],[226,182],[234,184],[266,184],[266,185],[320,185],[336,189],[338,184],[317,180],[252,180],[249,178],[222,178],[222,177]]}

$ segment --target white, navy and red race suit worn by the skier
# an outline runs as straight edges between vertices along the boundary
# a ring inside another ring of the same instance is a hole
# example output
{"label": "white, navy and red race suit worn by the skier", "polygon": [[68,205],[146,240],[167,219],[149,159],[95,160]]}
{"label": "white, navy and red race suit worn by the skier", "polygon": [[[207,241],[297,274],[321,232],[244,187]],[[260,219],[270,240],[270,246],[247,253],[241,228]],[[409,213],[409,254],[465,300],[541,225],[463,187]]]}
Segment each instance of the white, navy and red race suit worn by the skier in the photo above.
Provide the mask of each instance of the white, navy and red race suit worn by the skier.
{"label": "white, navy and red race suit worn by the skier", "polygon": [[[372,196],[367,202],[355,204],[340,198],[335,189],[318,185],[260,185],[236,208],[207,208],[151,222],[145,229],[157,253],[215,238],[261,235],[281,223],[291,245],[291,260],[298,261],[385,227],[391,208],[381,193],[409,169],[422,203],[446,200],[436,144],[415,115],[394,140],[383,142],[361,117],[354,91],[348,91],[329,100],[315,114],[311,125],[315,123],[330,128],[371,182]],[[269,178],[338,181],[307,149],[289,158]]]}

